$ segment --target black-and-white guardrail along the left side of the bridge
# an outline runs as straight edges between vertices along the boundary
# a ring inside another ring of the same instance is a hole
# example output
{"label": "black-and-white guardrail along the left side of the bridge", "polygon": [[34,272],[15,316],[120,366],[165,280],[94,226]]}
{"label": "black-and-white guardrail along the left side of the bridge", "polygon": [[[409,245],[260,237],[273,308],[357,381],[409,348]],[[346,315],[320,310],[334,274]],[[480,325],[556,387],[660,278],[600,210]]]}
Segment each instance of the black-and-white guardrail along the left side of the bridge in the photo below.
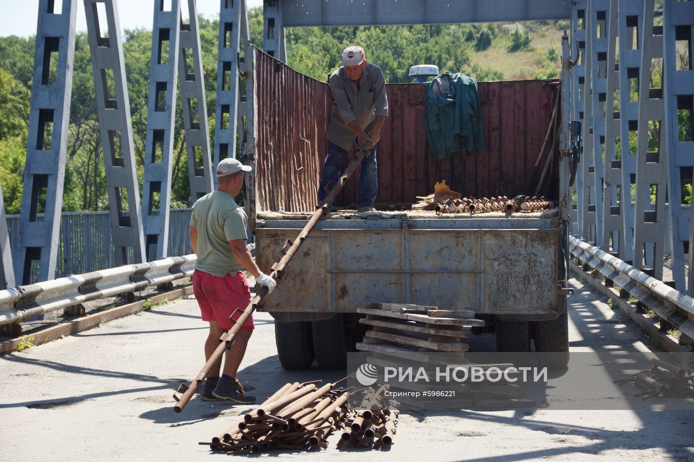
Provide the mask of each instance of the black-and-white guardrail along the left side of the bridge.
{"label": "black-and-white guardrail along the left side of the bridge", "polygon": [[0,325],[182,279],[193,274],[195,262],[195,254],[168,257],[12,287],[0,291]]}

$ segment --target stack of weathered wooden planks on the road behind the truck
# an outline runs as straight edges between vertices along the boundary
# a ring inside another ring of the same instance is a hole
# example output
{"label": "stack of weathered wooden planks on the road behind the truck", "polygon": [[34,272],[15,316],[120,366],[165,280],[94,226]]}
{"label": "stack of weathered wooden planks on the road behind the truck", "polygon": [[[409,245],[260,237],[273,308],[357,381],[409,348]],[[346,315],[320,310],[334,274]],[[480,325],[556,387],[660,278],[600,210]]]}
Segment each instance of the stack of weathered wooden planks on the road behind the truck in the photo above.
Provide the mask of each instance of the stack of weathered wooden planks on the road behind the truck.
{"label": "stack of weathered wooden planks on the road behind the truck", "polygon": [[[473,311],[450,311],[421,305],[399,303],[369,303],[357,312],[366,315],[359,323],[369,326],[364,341],[357,343],[357,350],[371,352],[369,362],[375,366],[418,366],[447,365],[482,366],[483,368],[513,368],[510,363],[471,364],[464,357],[469,349],[462,339],[468,339],[468,327],[482,327],[484,320],[475,319]],[[437,353],[446,353],[437,355]],[[398,387],[413,391],[418,384],[402,382]],[[421,387],[420,387],[421,388]],[[428,384],[428,390],[450,390],[450,384]],[[501,380],[500,382],[475,382],[459,384],[456,397],[462,397],[466,407],[476,409],[507,409],[534,406],[535,402],[524,399],[521,386]],[[434,409],[441,400],[418,400],[423,409]]]}

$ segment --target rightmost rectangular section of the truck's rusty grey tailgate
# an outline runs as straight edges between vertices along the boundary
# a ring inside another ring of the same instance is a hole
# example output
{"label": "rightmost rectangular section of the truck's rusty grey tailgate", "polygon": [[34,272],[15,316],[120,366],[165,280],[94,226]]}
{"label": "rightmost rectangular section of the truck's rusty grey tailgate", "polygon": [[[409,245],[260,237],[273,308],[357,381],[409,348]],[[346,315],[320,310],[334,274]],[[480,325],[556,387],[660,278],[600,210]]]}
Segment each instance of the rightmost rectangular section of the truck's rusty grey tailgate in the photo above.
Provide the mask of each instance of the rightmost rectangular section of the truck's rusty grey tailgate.
{"label": "rightmost rectangular section of the truck's rusty grey tailgate", "polygon": [[553,313],[558,303],[556,230],[484,234],[484,312]]}

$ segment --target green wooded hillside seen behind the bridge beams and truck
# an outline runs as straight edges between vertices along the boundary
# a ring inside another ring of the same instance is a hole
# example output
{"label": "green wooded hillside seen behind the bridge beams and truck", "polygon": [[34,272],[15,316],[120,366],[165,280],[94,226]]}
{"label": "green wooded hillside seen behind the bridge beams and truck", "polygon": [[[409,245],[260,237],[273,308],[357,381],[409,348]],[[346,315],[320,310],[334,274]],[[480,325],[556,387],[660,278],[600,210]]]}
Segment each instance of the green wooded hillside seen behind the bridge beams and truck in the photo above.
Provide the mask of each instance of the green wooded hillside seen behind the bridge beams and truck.
{"label": "green wooded hillside seen behind the bridge beams and truck", "polygon": [[[524,23],[529,31],[536,24]],[[248,10],[251,41],[262,47],[262,7]],[[435,24],[417,26],[359,26],[287,29],[287,59],[294,69],[325,81],[340,65],[341,51],[350,44],[360,44],[369,62],[379,65],[389,83],[409,82],[409,67],[417,64],[437,65],[441,72],[462,72],[477,80],[502,80],[514,77],[503,71],[502,60],[473,62],[475,50],[491,53],[498,49],[507,55],[514,46],[514,34],[494,23]],[[217,88],[217,46],[219,19],[200,18],[205,97],[210,127],[210,145],[214,146],[214,108]],[[521,33],[518,49],[531,49],[532,34]],[[133,126],[133,154],[139,185],[142,185],[146,151],[147,104],[151,31],[143,28],[123,33],[128,99]],[[0,37],[0,181],[6,212],[18,214],[22,200],[24,162],[27,148],[28,112],[33,80],[35,37]],[[536,55],[542,53],[537,51]],[[511,56],[511,55],[508,55]],[[525,57],[523,57],[525,59]],[[503,60],[508,61],[508,60]],[[530,60],[532,62],[532,59]],[[558,62],[542,55],[541,75],[552,76]],[[240,89],[245,91],[241,79]],[[176,99],[176,125],[172,157],[171,207],[190,203],[187,151],[183,136],[180,97]],[[69,128],[63,210],[106,210],[108,191],[103,166],[101,132],[96,115],[96,95],[91,53],[87,35],[76,36],[73,85]],[[140,186],[142,187],[142,186]],[[139,191],[142,194],[142,190]],[[242,200],[238,198],[237,200]]]}

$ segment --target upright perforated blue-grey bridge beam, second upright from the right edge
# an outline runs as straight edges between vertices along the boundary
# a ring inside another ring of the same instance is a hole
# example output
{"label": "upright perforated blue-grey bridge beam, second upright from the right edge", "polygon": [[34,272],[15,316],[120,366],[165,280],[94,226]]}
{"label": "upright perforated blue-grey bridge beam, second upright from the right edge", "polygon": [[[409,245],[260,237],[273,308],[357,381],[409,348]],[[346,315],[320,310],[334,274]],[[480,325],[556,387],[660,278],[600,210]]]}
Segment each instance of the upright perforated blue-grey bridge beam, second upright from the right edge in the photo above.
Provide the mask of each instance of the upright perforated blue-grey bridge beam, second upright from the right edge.
{"label": "upright perforated blue-grey bridge beam, second upright from the right edge", "polygon": [[[632,185],[636,190],[636,144],[632,150],[632,138],[636,139],[638,126],[638,91],[632,92],[638,84],[641,69],[641,50],[643,37],[643,3],[632,0],[618,0],[619,20],[619,124],[621,141],[622,198],[620,207],[624,221],[624,253],[620,259],[634,260],[634,202]],[[634,80],[635,79],[635,80]],[[632,98],[636,95],[636,99]],[[620,252],[621,254],[621,252]]]}

